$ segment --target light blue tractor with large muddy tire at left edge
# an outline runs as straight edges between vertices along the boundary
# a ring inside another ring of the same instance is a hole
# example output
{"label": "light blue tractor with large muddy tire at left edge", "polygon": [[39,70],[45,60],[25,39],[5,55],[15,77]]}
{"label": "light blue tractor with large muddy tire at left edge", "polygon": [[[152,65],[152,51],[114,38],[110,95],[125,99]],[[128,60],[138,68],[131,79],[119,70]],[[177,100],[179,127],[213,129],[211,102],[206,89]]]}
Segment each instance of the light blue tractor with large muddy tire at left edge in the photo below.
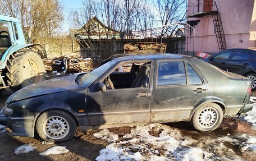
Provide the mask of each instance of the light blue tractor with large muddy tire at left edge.
{"label": "light blue tractor with large muddy tire at left edge", "polygon": [[18,19],[0,14],[0,93],[45,80],[46,57],[41,45],[26,44]]}

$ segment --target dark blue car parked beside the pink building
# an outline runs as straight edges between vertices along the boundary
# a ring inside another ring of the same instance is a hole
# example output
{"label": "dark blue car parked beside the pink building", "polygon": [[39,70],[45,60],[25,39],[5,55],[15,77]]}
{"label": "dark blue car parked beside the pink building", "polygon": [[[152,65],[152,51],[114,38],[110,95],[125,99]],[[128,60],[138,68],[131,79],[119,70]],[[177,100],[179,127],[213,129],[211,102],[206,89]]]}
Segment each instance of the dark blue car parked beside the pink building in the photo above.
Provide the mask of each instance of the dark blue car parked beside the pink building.
{"label": "dark blue car parked beside the pink building", "polygon": [[204,61],[222,70],[246,76],[252,80],[252,90],[256,90],[256,51],[250,49],[227,49],[213,54]]}

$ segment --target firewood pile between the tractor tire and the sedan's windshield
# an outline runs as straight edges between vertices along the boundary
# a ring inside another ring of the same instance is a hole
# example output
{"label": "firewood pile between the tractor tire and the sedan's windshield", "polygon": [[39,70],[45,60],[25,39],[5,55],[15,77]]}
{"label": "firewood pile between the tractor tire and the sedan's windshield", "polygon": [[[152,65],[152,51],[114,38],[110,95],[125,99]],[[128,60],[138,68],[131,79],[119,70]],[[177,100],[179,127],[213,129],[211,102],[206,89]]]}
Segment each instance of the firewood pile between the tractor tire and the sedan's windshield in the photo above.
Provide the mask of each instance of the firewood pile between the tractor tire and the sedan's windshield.
{"label": "firewood pile between the tractor tire and the sedan's windshield", "polygon": [[83,58],[75,53],[65,57],[44,59],[45,70],[66,71],[67,73],[88,72],[97,67],[97,64],[94,58]]}

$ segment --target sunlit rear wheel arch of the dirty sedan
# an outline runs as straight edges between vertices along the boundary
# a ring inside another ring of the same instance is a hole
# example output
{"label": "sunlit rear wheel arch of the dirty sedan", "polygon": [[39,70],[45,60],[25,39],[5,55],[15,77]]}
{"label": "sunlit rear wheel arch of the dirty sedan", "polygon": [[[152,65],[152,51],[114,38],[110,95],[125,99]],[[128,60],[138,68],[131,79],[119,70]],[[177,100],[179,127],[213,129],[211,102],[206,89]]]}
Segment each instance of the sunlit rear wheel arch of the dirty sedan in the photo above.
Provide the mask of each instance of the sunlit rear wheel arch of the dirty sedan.
{"label": "sunlit rear wheel arch of the dirty sedan", "polygon": [[217,103],[218,105],[221,106],[221,108],[222,108],[222,110],[223,110],[224,112],[226,111],[226,108],[227,108],[227,107],[226,107],[225,101],[224,101],[223,99],[218,98],[218,97],[216,97],[216,96],[207,96],[207,97],[205,97],[205,98],[199,100],[199,101],[194,105],[194,107],[193,107],[193,109],[192,109],[192,111],[191,111],[191,113],[190,113],[190,118],[189,118],[189,119],[192,118],[194,112],[196,111],[196,109],[197,109],[198,107],[200,107],[200,105],[202,105],[202,104],[204,104],[204,103],[209,103],[209,102]]}

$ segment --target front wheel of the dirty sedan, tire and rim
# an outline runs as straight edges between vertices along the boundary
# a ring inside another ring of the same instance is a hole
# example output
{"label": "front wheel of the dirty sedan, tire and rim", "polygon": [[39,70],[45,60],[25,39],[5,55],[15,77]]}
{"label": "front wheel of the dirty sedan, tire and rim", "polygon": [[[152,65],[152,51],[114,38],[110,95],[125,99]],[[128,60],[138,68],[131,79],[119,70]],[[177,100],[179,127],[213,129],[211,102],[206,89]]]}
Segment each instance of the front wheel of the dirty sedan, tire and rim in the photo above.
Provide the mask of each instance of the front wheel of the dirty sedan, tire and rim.
{"label": "front wheel of the dirty sedan, tire and rim", "polygon": [[76,121],[71,114],[58,109],[42,113],[36,121],[38,135],[49,142],[71,140],[76,130]]}

